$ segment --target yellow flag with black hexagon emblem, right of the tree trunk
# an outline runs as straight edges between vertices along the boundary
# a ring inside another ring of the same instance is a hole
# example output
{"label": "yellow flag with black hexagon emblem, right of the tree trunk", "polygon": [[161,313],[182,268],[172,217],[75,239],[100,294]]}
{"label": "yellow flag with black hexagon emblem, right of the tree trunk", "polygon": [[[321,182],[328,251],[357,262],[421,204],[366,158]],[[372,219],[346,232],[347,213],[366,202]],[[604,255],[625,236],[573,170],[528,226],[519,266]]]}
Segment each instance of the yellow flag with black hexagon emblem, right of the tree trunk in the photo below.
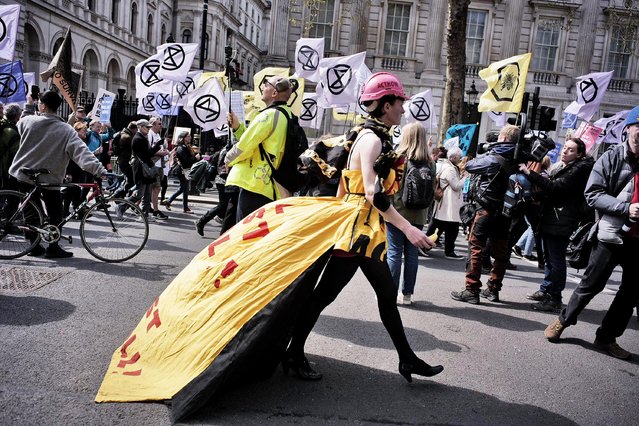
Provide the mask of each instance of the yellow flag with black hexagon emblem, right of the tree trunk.
{"label": "yellow flag with black hexagon emblem, right of the tree trunk", "polygon": [[519,112],[526,90],[526,75],[530,65],[531,53],[513,56],[490,64],[479,71],[482,80],[488,83],[488,89],[479,99],[478,111]]}

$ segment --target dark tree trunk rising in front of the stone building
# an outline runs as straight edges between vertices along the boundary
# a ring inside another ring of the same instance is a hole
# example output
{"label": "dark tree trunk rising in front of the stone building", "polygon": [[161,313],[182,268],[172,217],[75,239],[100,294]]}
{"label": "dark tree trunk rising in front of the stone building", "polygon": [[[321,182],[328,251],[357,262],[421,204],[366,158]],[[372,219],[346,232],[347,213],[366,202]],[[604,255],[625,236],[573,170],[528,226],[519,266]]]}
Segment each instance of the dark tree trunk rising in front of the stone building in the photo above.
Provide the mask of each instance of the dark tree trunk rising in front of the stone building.
{"label": "dark tree trunk rising in front of the stone building", "polygon": [[448,0],[448,26],[446,28],[446,86],[442,100],[439,140],[443,142],[446,130],[461,123],[466,78],[466,22],[470,0]]}

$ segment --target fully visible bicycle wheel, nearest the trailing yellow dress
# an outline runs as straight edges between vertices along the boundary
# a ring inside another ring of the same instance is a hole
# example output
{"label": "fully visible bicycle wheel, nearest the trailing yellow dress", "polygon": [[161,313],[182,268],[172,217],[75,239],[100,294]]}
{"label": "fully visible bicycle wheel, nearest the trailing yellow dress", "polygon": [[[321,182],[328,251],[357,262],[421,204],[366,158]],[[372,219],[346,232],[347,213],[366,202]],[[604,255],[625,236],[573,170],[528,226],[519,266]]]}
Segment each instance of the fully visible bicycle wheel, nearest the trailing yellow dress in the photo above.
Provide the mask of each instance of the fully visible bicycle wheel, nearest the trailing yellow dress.
{"label": "fully visible bicycle wheel, nearest the trailing yellow dress", "polygon": [[[137,255],[149,238],[149,223],[142,210],[130,201],[109,200],[110,211],[94,204],[80,222],[80,239],[92,256],[104,262],[124,262]],[[125,206],[119,214],[117,209]],[[107,216],[108,212],[108,216]]]}

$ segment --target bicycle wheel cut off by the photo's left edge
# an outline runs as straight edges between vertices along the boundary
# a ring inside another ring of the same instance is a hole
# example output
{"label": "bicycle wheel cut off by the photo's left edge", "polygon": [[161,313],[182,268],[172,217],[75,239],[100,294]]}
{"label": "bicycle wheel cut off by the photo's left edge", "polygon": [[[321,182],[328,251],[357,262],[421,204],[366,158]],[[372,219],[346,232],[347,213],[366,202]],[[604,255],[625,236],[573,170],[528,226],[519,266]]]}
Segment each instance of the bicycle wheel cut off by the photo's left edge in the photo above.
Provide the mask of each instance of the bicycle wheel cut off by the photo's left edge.
{"label": "bicycle wheel cut off by the photo's left edge", "polygon": [[19,210],[24,197],[17,191],[0,191],[0,259],[24,256],[40,242],[40,234],[29,229],[42,228],[42,212],[33,200]]}

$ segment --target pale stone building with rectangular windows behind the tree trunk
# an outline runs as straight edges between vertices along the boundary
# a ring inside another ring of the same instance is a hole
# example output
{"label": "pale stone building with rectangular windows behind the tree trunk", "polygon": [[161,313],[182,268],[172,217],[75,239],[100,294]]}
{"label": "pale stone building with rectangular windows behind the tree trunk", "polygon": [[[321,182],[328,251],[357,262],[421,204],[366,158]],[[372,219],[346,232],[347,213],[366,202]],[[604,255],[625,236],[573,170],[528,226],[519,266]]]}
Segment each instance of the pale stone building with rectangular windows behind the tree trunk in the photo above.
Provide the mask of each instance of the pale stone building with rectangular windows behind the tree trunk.
{"label": "pale stone building with rectangular windows behind the tree trunk", "polygon": [[[300,36],[326,37],[328,55],[366,51],[373,70],[400,76],[410,94],[432,89],[441,105],[446,72],[447,0],[291,0],[287,57]],[[628,5],[630,9],[628,9]],[[492,62],[532,52],[527,91],[555,119],[575,99],[575,77],[614,70],[600,116],[639,104],[639,1],[472,0],[465,87]],[[276,39],[280,40],[279,38]],[[596,118],[596,117],[595,117]],[[482,128],[492,128],[486,114]]]}

